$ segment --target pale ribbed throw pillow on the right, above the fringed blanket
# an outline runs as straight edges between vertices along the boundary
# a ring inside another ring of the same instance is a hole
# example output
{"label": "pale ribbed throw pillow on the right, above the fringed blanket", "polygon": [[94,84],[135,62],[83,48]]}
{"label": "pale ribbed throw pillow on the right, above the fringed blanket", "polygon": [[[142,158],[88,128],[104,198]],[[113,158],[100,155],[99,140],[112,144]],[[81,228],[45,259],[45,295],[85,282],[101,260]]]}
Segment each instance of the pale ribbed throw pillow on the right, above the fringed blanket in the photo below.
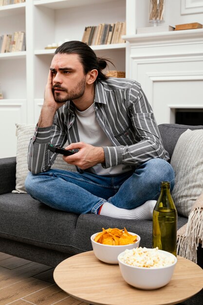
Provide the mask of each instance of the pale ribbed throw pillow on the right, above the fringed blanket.
{"label": "pale ribbed throw pillow on the right, above the fringed blanket", "polygon": [[171,162],[175,186],[171,195],[179,214],[188,217],[203,192],[203,130],[186,130],[178,139]]}

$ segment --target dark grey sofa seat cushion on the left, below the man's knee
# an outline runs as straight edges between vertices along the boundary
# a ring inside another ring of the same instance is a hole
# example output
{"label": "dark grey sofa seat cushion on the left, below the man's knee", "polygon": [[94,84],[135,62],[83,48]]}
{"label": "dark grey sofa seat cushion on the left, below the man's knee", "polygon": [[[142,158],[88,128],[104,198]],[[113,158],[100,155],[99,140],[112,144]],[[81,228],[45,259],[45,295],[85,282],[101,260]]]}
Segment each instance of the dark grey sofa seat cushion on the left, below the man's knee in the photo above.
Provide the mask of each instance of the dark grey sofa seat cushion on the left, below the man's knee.
{"label": "dark grey sofa seat cushion on the left, below the man's knee", "polygon": [[3,238],[75,254],[77,218],[76,214],[49,208],[28,194],[0,195],[0,237]]}

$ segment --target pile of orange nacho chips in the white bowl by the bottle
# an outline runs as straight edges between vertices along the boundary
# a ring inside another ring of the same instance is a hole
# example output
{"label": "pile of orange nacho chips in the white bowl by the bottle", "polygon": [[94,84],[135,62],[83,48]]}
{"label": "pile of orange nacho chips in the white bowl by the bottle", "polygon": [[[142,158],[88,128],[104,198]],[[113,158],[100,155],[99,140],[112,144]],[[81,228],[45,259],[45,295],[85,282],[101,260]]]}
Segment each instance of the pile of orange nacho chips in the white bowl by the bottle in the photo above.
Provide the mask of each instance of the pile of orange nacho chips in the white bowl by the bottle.
{"label": "pile of orange nacho chips in the white bowl by the bottle", "polygon": [[94,241],[100,244],[111,246],[129,245],[134,244],[137,241],[137,235],[129,234],[126,228],[102,228],[102,232],[99,232],[95,236]]}

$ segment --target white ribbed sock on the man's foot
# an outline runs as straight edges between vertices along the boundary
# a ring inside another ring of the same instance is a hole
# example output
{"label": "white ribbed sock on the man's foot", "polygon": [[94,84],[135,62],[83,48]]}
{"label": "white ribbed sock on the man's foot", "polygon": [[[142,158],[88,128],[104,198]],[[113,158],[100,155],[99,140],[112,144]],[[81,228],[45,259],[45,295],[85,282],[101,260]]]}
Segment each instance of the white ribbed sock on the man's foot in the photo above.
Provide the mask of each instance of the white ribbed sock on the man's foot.
{"label": "white ribbed sock on the man's foot", "polygon": [[156,200],[148,200],[142,206],[127,210],[113,206],[109,202],[105,202],[100,209],[99,214],[114,218],[151,220]]}

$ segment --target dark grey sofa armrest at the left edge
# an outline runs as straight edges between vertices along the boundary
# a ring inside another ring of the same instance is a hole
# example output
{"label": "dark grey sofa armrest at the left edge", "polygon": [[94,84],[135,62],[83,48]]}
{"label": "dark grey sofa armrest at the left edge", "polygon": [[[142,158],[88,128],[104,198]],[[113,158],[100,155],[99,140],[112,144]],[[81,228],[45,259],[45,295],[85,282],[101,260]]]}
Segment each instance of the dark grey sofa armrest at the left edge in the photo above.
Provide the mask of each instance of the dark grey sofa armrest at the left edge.
{"label": "dark grey sofa armrest at the left edge", "polygon": [[0,194],[16,188],[16,157],[0,159]]}

